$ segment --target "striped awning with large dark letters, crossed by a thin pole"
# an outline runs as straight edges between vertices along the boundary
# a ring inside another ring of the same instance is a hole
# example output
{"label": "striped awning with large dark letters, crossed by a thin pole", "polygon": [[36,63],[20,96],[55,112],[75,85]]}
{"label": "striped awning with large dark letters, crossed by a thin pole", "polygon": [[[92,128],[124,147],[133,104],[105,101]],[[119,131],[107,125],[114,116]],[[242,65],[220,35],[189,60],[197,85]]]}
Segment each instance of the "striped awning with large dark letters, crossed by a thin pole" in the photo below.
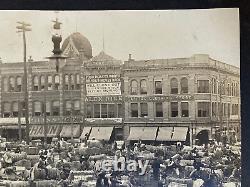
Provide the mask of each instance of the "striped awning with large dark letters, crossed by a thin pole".
{"label": "striped awning with large dark letters, crossed by a thin pole", "polygon": [[[55,137],[60,133],[59,125],[48,125],[47,137]],[[44,125],[32,125],[30,127],[30,137],[44,137]]]}

